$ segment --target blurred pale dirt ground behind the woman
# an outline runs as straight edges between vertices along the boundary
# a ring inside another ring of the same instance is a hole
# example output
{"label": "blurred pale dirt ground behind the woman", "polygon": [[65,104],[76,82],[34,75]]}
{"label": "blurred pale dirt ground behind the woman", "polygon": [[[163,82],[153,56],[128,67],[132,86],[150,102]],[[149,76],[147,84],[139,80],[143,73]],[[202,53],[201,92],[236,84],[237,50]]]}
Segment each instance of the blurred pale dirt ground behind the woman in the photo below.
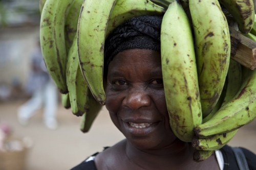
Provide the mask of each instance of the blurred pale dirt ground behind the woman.
{"label": "blurred pale dirt ground behind the woman", "polygon": [[[30,119],[28,126],[19,125],[16,116],[18,106],[24,100],[0,103],[0,122],[8,123],[13,135],[19,138],[29,137],[33,146],[29,149],[25,170],[63,170],[86,159],[103,147],[111,146],[124,138],[115,128],[108,111],[103,108],[96,118],[89,133],[79,130],[80,117],[72,114],[70,109],[58,107],[57,130],[48,130],[42,123],[42,110]],[[229,145],[244,147],[256,154],[256,120],[242,127]]]}

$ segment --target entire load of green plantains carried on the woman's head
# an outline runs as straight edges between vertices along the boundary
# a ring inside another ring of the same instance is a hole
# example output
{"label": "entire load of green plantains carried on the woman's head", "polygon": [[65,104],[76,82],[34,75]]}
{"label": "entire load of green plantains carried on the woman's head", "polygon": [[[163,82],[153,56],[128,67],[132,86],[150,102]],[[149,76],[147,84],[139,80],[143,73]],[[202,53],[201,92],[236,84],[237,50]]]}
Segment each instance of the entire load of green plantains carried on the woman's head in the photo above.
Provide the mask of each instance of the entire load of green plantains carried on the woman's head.
{"label": "entire load of green plantains carried on the woman's head", "polygon": [[169,123],[180,140],[191,142],[195,161],[207,159],[256,117],[256,72],[230,59],[229,35],[236,25],[256,41],[253,0],[40,0],[40,11],[47,69],[63,106],[82,116],[82,132],[105,104],[105,39],[125,20],[142,15],[163,15]]}

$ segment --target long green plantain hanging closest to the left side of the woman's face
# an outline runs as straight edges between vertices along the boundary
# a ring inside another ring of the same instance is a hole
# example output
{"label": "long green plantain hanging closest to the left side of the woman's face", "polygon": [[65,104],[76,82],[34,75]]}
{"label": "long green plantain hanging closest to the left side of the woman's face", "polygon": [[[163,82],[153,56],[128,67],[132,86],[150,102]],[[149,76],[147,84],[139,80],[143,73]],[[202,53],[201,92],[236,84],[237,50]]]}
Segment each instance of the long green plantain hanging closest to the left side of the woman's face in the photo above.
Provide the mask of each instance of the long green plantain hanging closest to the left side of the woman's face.
{"label": "long green plantain hanging closest to the left side of the woman's face", "polygon": [[105,32],[117,0],[86,0],[78,20],[77,46],[79,64],[94,98],[105,104],[103,89],[103,53]]}

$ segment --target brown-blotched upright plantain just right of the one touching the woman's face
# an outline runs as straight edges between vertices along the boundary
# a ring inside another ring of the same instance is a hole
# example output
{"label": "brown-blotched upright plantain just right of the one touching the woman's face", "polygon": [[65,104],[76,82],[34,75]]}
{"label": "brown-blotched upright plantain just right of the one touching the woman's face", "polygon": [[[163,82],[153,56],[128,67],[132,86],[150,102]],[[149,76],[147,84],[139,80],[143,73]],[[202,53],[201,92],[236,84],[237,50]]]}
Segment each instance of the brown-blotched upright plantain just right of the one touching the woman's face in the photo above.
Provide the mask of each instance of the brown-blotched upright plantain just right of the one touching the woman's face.
{"label": "brown-blotched upright plantain just right of the one touching the woman's face", "polygon": [[190,0],[196,41],[197,70],[203,118],[220,98],[230,60],[230,36],[217,0]]}

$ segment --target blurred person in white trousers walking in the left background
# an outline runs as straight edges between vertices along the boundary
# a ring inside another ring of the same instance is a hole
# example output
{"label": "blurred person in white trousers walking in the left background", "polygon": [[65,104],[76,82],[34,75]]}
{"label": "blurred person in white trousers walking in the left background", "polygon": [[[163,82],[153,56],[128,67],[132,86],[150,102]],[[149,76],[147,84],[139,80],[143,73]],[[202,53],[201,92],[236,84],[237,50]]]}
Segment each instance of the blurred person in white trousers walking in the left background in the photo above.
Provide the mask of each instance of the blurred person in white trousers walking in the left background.
{"label": "blurred person in white trousers walking in the left background", "polygon": [[57,87],[48,74],[39,42],[32,54],[31,61],[32,66],[26,84],[26,92],[31,93],[32,96],[18,108],[18,121],[24,126],[28,125],[29,118],[36,114],[41,107],[44,107],[44,124],[47,128],[54,130],[58,126],[56,120]]}

